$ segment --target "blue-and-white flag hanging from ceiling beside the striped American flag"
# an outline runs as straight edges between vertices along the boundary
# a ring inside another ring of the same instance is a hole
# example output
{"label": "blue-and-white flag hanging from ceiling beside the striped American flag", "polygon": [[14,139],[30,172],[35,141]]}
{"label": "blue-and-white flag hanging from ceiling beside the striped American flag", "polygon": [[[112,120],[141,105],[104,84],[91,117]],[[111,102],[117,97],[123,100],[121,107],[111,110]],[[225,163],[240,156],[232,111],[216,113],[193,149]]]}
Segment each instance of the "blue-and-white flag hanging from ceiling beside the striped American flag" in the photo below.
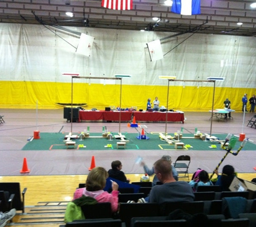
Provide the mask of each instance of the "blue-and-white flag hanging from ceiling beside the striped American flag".
{"label": "blue-and-white flag hanging from ceiling beside the striped American flag", "polygon": [[171,12],[181,15],[200,14],[200,0],[174,0],[171,6]]}

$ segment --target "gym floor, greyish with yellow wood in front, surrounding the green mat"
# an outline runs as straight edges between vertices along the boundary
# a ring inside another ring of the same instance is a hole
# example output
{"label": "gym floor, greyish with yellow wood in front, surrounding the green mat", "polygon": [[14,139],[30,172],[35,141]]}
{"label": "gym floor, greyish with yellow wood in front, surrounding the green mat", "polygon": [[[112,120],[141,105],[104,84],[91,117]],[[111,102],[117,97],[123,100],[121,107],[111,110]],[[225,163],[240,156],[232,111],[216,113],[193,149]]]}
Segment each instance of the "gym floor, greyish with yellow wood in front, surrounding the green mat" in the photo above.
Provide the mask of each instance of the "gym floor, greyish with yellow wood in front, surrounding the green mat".
{"label": "gym floor, greyish with yellow wood in front, surrounding the green mat", "polygon": [[[42,211],[35,212],[31,210],[38,206],[38,202],[71,201],[75,188],[78,187],[79,183],[85,182],[86,180],[92,155],[95,155],[96,157],[96,165],[103,166],[106,169],[110,168],[112,160],[121,160],[123,171],[127,173],[127,177],[131,181],[140,181],[143,174],[143,168],[134,164],[134,160],[138,155],[143,157],[144,161],[151,166],[154,161],[161,158],[163,154],[171,155],[174,161],[180,154],[189,154],[191,155],[189,172],[190,175],[192,175],[197,168],[206,169],[206,171],[211,173],[225,154],[224,151],[219,150],[207,153],[196,151],[156,152],[153,150],[128,152],[126,150],[120,150],[118,152],[113,152],[112,154],[104,154],[102,151],[88,151],[88,153],[83,154],[85,158],[80,161],[75,159],[77,153],[74,151],[63,150],[62,153],[58,154],[50,153],[49,151],[40,151],[42,154],[37,156],[35,151],[22,151],[22,147],[27,143],[27,138],[33,135],[34,130],[39,130],[40,132],[59,132],[60,130],[70,131],[71,123],[67,123],[66,119],[63,119],[63,109],[38,110],[38,115],[36,115],[36,110],[2,109],[0,114],[4,115],[5,120],[5,123],[0,124],[0,181],[20,182],[22,189],[25,187],[27,188],[25,194],[26,214],[19,215],[18,211],[18,215],[13,219],[13,224],[11,223],[10,225],[16,225],[15,223],[17,223],[19,226],[23,226],[21,223],[26,223],[27,220],[31,221],[31,217],[34,218],[33,222],[25,224],[24,226],[45,226],[46,223],[39,224],[41,219],[47,221],[47,223],[49,223],[47,226],[49,227],[59,226],[60,223],[63,223],[65,211],[59,211],[58,214],[56,214],[56,211],[50,211],[48,214],[45,214],[45,212]],[[246,134],[246,137],[253,141],[252,143],[256,144],[255,129],[246,126],[247,120],[251,119],[253,113],[246,113],[245,119],[243,119],[243,113],[235,112],[232,113],[232,116],[233,120],[228,120],[227,122],[224,120],[218,122],[216,119],[213,119],[212,133],[227,134],[231,132],[239,136],[239,133],[243,132]],[[177,130],[181,130],[181,127],[184,127],[186,133],[193,133],[195,127],[202,133],[210,132],[209,112],[185,112],[185,118],[186,120],[184,124],[168,123],[168,133],[174,133]],[[145,124],[148,126],[149,131],[164,132],[165,123]],[[117,132],[119,128],[118,123],[102,122],[73,123],[72,127],[73,131],[83,131],[84,128],[90,126],[91,130],[94,130],[94,132],[101,132],[102,126],[104,125],[107,125],[109,131]],[[121,132],[127,131],[129,132],[127,123],[121,123]],[[42,155],[44,155],[43,159],[41,159],[41,157],[43,157]],[[61,157],[59,157],[60,155]],[[28,167],[31,169],[28,174],[19,173],[23,165],[24,157],[27,158]],[[57,163],[58,159],[63,165]],[[245,147],[245,150],[242,150],[237,157],[229,154],[223,161],[222,166],[226,164],[231,164],[235,167],[239,178],[245,180],[256,178],[256,171],[253,169],[253,167],[256,166],[255,151],[246,151]],[[52,169],[51,174],[44,174],[44,169],[41,169],[42,165],[46,169]],[[76,172],[73,172],[71,165],[77,166]],[[222,166],[220,166],[220,170],[222,169]],[[72,169],[72,171],[70,169]],[[45,206],[39,205],[38,207],[46,209]],[[62,207],[62,209],[64,208],[65,210],[65,203],[64,205],[56,205],[56,207],[53,207],[54,209]],[[52,218],[49,218],[50,216],[52,216]],[[57,218],[57,223],[53,222],[54,217]]]}

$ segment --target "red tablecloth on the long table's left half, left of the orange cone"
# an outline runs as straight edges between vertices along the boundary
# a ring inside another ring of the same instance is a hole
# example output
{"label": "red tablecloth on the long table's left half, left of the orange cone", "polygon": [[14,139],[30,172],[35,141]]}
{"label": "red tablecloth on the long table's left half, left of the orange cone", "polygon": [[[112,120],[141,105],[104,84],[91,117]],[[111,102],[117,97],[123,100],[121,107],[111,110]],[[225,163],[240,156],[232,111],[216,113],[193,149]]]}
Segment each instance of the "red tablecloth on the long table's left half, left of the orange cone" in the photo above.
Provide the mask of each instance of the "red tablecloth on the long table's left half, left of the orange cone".
{"label": "red tablecloth on the long table's left half, left of the orange cone", "polygon": [[[111,120],[119,122],[119,111],[79,111],[80,120]],[[121,122],[129,122],[133,112],[121,111]]]}

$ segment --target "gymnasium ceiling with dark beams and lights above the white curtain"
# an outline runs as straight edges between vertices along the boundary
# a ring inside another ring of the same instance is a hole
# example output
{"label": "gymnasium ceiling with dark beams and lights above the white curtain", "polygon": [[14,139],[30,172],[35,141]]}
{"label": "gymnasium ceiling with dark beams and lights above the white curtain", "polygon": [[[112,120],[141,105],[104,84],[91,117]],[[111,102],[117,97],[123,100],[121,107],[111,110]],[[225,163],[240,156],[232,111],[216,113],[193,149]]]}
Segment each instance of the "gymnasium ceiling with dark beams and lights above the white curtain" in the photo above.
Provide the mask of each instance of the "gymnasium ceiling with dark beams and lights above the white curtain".
{"label": "gymnasium ceiling with dark beams and lights above the white curtain", "polygon": [[[126,11],[102,8],[101,0],[7,0],[0,1],[0,27],[1,23],[44,23],[255,37],[256,8],[250,7],[253,2],[256,0],[201,0],[200,15],[183,16],[170,12],[164,0],[133,0],[133,10]],[[74,16],[67,17],[67,11]],[[160,18],[160,22],[154,22],[153,17]]]}

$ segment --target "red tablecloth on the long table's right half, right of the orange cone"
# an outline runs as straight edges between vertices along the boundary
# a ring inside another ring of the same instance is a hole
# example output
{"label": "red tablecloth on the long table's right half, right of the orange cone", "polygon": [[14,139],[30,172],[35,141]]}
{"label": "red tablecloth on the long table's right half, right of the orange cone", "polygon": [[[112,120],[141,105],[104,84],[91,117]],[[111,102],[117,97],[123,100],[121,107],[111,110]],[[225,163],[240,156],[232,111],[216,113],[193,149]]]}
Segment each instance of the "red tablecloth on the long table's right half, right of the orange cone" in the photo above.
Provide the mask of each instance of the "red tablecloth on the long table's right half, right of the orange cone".
{"label": "red tablecloth on the long table's right half, right of the orange cone", "polygon": [[[166,120],[166,112],[134,111],[133,116],[138,122],[165,122]],[[184,123],[184,113],[168,112],[167,121]]]}

